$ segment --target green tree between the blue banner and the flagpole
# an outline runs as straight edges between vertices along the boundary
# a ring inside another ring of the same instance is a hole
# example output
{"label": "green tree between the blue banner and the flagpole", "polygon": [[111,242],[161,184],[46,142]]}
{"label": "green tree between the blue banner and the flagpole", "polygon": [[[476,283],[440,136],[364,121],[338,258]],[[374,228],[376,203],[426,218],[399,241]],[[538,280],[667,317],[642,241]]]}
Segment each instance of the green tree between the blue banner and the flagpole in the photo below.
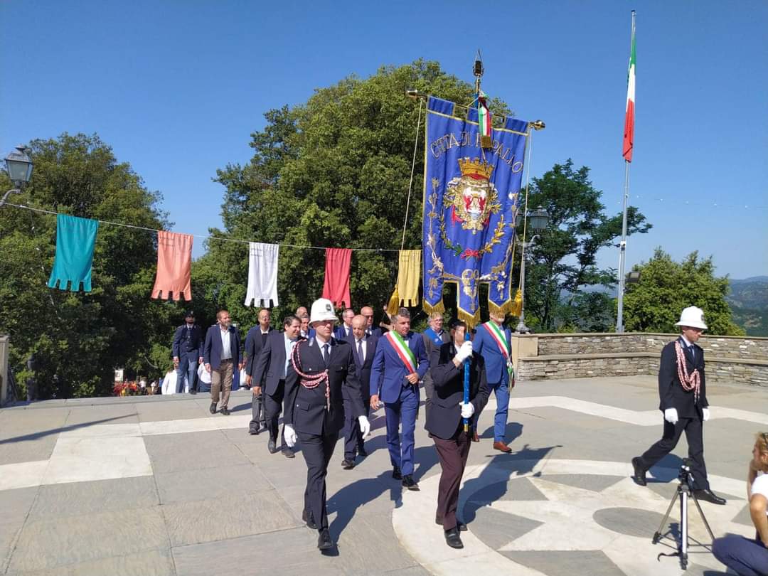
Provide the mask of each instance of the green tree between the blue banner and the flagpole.
{"label": "green tree between the blue banner and the flagpole", "polygon": [[[594,316],[595,306],[607,305],[603,296],[579,295],[584,286],[616,284],[615,270],[599,268],[597,255],[601,248],[614,246],[621,236],[621,214],[612,217],[604,214],[601,196],[601,190],[589,180],[589,168],[582,166],[575,170],[570,158],[531,180],[528,208],[545,208],[549,223],[528,251],[525,267],[528,326],[542,332],[569,324],[575,326],[574,316],[582,319]],[[646,233],[650,227],[636,207],[627,208],[627,235]],[[522,230],[518,233],[522,235]],[[527,230],[527,240],[533,234]],[[568,310],[571,307],[576,310]],[[606,322],[605,310],[598,319],[597,323],[582,321],[581,328],[608,329],[610,323]]]}

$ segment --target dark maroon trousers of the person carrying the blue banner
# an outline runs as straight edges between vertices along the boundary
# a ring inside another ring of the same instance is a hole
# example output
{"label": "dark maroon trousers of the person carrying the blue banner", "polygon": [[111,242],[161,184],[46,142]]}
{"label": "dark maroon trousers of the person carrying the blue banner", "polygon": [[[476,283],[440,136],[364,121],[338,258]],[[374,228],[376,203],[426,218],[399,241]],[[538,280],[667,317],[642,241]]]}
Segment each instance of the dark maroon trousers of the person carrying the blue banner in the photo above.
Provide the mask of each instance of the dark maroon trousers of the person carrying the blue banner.
{"label": "dark maroon trousers of the person carrying the blue banner", "polygon": [[456,527],[458,488],[462,485],[471,442],[469,433],[464,432],[463,425],[459,426],[453,438],[445,440],[432,435],[432,440],[435,441],[440,468],[442,468],[435,519],[442,521],[443,530],[450,530]]}

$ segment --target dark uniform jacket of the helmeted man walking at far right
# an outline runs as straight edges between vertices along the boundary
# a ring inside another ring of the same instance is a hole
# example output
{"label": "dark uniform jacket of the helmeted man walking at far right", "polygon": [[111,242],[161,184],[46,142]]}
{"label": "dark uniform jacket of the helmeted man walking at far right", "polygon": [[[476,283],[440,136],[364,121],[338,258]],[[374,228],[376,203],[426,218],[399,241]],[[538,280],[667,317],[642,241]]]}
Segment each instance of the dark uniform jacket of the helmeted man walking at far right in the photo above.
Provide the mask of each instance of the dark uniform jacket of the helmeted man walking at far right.
{"label": "dark uniform jacket of the helmeted man walking at far right", "polygon": [[[699,389],[699,401],[694,404],[694,391],[687,391],[680,383],[677,376],[677,353],[675,352],[675,342],[679,342],[683,347],[685,362],[690,375],[694,369],[698,369],[700,374],[701,387]],[[684,339],[678,338],[675,342],[670,342],[661,350],[661,362],[659,365],[659,409],[667,408],[677,409],[678,418],[700,418],[701,409],[710,406],[707,402],[707,384],[704,377],[704,351],[698,344],[694,344],[696,357],[691,360],[690,351],[686,348]]]}

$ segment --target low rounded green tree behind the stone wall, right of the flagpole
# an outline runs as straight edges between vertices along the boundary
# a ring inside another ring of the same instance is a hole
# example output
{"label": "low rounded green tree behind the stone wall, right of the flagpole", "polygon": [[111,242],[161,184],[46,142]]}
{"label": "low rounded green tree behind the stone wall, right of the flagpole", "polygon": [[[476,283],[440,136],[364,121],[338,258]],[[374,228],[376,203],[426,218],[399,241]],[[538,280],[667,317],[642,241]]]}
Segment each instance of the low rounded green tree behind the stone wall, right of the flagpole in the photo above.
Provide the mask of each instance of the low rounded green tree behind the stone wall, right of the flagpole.
{"label": "low rounded green tree behind the stone wall, right of the flagpole", "polygon": [[640,282],[627,285],[624,296],[624,323],[636,332],[676,333],[674,324],[680,311],[698,306],[704,311],[707,332],[723,336],[743,336],[744,330],[733,322],[726,296],[728,277],[717,277],[712,257],[690,253],[677,263],[661,248],[646,263],[634,266]]}

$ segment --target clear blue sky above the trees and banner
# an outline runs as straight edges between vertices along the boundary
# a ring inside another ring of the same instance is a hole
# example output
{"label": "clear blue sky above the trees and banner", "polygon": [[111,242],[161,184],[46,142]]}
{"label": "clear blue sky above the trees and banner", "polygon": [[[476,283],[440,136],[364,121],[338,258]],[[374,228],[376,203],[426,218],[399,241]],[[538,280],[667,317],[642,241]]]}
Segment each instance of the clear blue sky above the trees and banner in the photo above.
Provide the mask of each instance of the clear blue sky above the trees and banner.
{"label": "clear blue sky above the trees and banner", "polygon": [[[654,229],[630,239],[627,263],[661,246],[711,254],[734,278],[768,274],[766,2],[481,5],[482,18],[466,2],[5,0],[0,151],[98,133],[161,191],[174,230],[205,234],[220,226],[211,178],[249,160],[264,111],[416,58],[472,81],[481,48],[485,91],[547,123],[531,174],[572,157],[617,213],[636,8],[631,204]],[[617,250],[601,253],[601,265],[617,262]]]}

